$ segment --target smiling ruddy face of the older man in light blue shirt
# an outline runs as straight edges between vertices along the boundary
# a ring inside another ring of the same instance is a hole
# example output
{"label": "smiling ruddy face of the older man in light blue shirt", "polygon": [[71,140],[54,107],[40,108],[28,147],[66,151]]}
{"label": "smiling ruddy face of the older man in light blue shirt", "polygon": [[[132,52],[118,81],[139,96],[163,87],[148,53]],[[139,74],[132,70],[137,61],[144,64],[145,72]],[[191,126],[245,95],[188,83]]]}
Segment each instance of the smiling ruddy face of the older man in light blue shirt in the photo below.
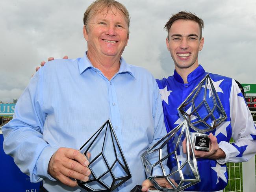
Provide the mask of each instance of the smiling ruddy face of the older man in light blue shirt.
{"label": "smiling ruddy face of the older man in light blue shirt", "polygon": [[103,9],[89,20],[87,29],[84,27],[83,34],[90,54],[121,56],[129,39],[128,25],[121,11],[115,7]]}

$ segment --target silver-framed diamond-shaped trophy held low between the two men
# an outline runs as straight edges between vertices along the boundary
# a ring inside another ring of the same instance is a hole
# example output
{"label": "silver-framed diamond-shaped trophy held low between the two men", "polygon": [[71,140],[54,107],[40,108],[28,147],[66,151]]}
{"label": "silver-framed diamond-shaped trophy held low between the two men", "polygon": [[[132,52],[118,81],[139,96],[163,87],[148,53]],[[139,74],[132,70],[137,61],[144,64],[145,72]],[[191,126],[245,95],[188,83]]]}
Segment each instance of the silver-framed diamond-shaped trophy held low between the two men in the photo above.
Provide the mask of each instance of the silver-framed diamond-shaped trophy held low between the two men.
{"label": "silver-framed diamond-shaped trophy held low between the two men", "polygon": [[[200,181],[187,120],[141,155],[150,192],[178,192]],[[138,190],[137,190],[138,191]]]}

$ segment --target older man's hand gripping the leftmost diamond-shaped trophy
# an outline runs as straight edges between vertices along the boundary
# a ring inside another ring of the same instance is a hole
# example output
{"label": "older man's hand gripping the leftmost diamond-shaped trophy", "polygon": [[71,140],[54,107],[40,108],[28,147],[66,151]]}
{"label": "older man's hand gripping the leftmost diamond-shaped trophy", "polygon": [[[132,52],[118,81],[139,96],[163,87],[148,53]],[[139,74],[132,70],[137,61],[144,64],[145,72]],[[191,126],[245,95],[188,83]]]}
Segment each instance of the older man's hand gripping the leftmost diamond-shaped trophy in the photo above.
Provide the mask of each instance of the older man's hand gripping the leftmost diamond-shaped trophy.
{"label": "older man's hand gripping the leftmost diamond-shaped trophy", "polygon": [[88,165],[89,161],[78,150],[59,148],[50,159],[48,174],[61,183],[74,187],[77,183],[70,178],[88,181],[91,174]]}

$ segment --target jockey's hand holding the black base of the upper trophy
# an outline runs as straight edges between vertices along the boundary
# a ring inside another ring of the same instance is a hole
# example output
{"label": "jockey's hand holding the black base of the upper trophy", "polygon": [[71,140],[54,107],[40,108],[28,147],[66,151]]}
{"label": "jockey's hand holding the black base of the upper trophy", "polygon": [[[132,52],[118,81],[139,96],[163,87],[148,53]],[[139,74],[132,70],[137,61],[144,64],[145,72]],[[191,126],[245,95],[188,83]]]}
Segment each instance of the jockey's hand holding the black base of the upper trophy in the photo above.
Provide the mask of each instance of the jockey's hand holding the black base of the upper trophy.
{"label": "jockey's hand holding the black base of the upper trophy", "polygon": [[195,156],[196,157],[203,157],[208,159],[222,159],[226,157],[226,154],[224,151],[219,148],[217,138],[213,136],[212,133],[210,133],[209,138],[211,140],[211,147],[210,151],[198,151],[195,150]]}

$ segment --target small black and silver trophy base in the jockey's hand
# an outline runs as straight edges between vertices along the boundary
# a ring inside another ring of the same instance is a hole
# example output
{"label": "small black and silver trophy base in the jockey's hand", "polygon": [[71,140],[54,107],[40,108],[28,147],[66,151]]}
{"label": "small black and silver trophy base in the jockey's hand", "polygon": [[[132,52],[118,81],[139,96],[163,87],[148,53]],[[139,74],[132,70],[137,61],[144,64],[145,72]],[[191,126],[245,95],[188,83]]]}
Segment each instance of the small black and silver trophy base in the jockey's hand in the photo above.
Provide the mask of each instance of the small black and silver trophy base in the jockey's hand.
{"label": "small black and silver trophy base in the jockey's hand", "polygon": [[210,151],[211,140],[204,133],[191,133],[195,150]]}

